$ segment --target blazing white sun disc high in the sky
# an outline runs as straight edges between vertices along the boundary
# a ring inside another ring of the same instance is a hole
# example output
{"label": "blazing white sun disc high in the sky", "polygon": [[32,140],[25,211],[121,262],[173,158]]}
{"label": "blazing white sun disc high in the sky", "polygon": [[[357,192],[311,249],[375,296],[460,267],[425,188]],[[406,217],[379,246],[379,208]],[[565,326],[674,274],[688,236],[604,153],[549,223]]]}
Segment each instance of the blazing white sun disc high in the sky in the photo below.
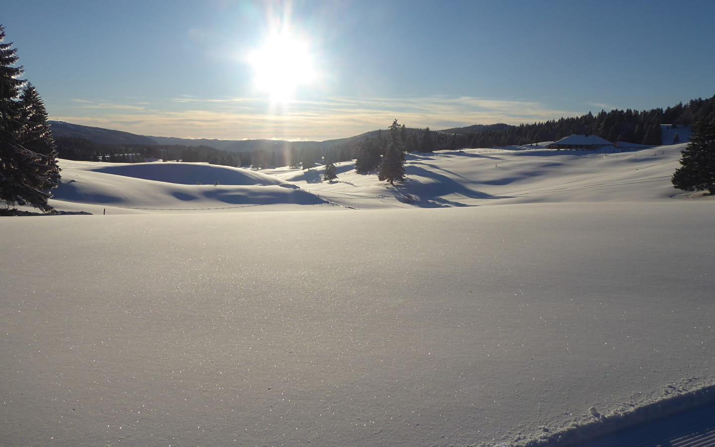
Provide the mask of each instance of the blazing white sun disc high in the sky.
{"label": "blazing white sun disc high in the sky", "polygon": [[250,54],[249,62],[255,87],[270,94],[271,102],[290,102],[298,87],[317,77],[307,41],[287,32],[269,36]]}

